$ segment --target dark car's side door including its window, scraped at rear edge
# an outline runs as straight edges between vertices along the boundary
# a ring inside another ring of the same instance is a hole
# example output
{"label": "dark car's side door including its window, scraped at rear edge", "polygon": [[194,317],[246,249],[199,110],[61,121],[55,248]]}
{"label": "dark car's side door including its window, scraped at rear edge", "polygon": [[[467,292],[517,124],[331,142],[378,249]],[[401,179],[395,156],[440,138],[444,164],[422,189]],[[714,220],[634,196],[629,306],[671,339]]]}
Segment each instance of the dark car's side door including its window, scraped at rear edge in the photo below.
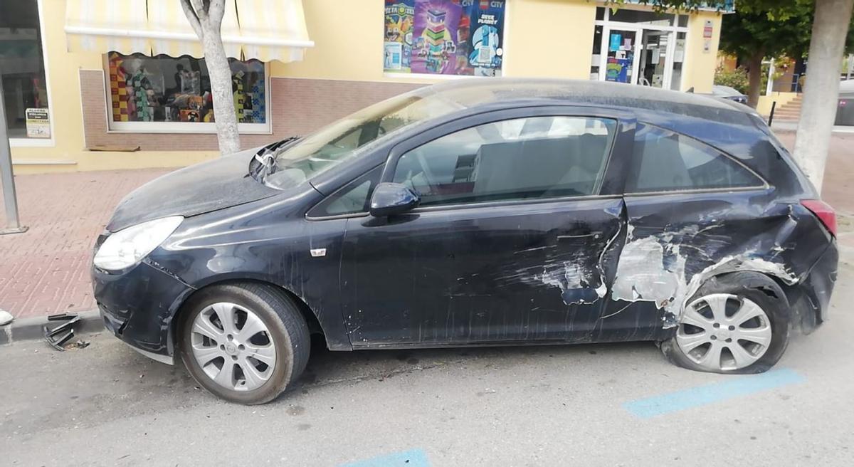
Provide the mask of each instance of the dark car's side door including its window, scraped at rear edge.
{"label": "dark car's side door including its window, scraped at rear edge", "polygon": [[633,128],[590,113],[478,115],[395,147],[383,180],[421,206],[348,219],[354,347],[590,339],[625,235],[609,156]]}

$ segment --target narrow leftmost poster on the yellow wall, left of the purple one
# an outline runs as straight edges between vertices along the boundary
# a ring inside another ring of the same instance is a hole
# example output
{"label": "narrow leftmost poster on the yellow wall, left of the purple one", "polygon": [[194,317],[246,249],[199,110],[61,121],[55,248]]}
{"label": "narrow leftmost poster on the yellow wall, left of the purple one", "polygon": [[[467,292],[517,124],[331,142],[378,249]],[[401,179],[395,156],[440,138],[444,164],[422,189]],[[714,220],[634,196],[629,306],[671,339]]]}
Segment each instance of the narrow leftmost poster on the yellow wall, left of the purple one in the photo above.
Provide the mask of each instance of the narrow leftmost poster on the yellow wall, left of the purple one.
{"label": "narrow leftmost poster on the yellow wall, left of the purple one", "polygon": [[385,71],[409,73],[414,18],[415,0],[385,0]]}

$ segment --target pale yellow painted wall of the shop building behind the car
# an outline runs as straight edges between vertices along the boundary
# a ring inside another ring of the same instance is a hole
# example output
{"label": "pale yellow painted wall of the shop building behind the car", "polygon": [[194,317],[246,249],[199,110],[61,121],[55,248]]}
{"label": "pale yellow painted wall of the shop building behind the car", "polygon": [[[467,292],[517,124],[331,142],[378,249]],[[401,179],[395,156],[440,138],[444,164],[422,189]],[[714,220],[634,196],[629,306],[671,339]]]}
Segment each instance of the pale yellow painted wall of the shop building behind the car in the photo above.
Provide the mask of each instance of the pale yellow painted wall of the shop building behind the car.
{"label": "pale yellow painted wall of the shop building behind the car", "polygon": [[[67,51],[65,3],[41,0],[54,145],[13,147],[15,172],[186,166],[216,157],[216,151],[114,153],[85,149],[79,70],[102,70],[102,56]],[[273,62],[273,77],[418,83],[440,80],[383,73],[383,0],[303,0],[303,6],[315,46],[307,50],[304,61]],[[588,79],[596,7],[597,3],[588,0],[508,0],[504,75]],[[707,53],[703,51],[705,20],[711,20],[713,26]],[[710,92],[721,16],[700,12],[690,16],[688,27],[682,90],[693,87],[697,92]]]}

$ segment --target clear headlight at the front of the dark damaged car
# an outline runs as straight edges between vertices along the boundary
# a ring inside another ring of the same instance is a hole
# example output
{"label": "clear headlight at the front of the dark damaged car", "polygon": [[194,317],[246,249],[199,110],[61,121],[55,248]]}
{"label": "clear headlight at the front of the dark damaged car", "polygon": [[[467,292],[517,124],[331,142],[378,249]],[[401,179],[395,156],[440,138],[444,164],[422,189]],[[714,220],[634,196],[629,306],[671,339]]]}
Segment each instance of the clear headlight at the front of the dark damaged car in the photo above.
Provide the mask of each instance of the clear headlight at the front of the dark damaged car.
{"label": "clear headlight at the front of the dark damaged car", "polygon": [[164,242],[184,220],[181,216],[149,220],[107,237],[95,254],[95,266],[120,271],[137,264]]}

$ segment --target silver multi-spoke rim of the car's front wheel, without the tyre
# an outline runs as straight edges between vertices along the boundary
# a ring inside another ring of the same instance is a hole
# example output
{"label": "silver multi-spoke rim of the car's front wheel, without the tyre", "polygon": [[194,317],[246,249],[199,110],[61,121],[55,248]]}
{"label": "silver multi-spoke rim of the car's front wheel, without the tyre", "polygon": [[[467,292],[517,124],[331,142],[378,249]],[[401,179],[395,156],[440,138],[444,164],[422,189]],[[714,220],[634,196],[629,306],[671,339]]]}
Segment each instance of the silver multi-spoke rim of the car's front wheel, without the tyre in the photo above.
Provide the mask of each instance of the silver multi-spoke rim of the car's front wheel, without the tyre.
{"label": "silver multi-spoke rim of the car's front wheel, without the tyre", "polygon": [[270,330],[258,315],[234,303],[214,303],[196,315],[190,345],[202,371],[234,391],[260,388],[276,366]]}

